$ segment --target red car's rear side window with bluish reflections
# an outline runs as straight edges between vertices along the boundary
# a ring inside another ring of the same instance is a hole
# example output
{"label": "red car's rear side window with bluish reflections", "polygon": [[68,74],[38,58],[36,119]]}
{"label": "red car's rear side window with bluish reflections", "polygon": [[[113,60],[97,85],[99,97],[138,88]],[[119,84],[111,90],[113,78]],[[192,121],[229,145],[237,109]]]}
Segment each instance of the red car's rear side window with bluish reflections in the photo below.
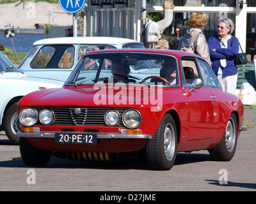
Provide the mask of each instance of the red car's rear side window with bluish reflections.
{"label": "red car's rear side window with bluish reflections", "polygon": [[202,75],[202,80],[204,81],[205,86],[207,87],[221,87],[220,82],[214,72],[212,71],[212,68],[207,64],[207,62],[202,61],[200,59],[198,60],[199,69]]}

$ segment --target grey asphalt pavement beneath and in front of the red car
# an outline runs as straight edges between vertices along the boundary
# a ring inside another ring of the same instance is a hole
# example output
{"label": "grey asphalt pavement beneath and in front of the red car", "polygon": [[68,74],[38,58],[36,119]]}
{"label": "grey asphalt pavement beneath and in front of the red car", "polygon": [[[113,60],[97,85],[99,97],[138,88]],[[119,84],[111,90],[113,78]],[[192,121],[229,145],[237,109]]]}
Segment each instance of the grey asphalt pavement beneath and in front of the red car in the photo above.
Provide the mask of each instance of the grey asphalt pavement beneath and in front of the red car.
{"label": "grey asphalt pavement beneath and in front of the red car", "polygon": [[[254,122],[255,117],[256,110],[244,110],[244,119]],[[255,146],[256,128],[249,128],[241,132],[236,154],[228,162],[212,161],[207,150],[200,150],[179,153],[168,171],[151,171],[138,161],[99,163],[56,157],[44,167],[31,168],[22,162],[19,146],[12,145],[2,131],[0,191],[100,191],[93,197],[98,201],[117,191],[256,191]]]}

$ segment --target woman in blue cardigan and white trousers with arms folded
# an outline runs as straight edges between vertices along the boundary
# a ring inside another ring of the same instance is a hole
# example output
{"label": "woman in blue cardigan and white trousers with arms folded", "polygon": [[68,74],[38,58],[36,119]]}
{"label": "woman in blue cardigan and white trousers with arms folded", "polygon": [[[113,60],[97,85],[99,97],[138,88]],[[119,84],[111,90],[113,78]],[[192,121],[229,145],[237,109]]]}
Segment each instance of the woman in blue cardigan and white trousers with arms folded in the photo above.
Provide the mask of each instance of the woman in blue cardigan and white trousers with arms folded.
{"label": "woman in blue cardigan and white trousers with arms folded", "polygon": [[212,69],[221,83],[223,91],[236,94],[237,67],[234,57],[239,52],[239,41],[231,33],[234,22],[230,18],[218,20],[218,34],[208,40]]}

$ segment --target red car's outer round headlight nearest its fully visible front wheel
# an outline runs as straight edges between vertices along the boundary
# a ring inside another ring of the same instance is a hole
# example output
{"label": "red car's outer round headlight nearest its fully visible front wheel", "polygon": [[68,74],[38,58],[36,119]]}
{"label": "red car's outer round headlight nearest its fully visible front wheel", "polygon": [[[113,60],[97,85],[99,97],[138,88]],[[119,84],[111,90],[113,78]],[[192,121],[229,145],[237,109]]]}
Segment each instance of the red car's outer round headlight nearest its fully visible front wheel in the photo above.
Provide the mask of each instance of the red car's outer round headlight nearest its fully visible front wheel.
{"label": "red car's outer round headlight nearest its fully visible front wheel", "polygon": [[138,110],[129,109],[123,115],[123,122],[127,128],[137,128],[141,123],[141,114]]}

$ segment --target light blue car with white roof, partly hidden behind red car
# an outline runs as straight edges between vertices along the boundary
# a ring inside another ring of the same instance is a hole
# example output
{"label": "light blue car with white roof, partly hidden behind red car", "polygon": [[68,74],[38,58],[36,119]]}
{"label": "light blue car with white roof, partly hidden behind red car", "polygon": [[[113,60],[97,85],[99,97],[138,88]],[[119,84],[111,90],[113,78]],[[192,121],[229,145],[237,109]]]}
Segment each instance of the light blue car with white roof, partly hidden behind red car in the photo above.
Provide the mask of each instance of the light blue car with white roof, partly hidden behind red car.
{"label": "light blue car with white roof, partly hidden behind red car", "polygon": [[144,45],[135,40],[113,37],[48,38],[33,43],[33,49],[18,68],[31,77],[65,82],[81,55],[113,48],[144,48]]}

